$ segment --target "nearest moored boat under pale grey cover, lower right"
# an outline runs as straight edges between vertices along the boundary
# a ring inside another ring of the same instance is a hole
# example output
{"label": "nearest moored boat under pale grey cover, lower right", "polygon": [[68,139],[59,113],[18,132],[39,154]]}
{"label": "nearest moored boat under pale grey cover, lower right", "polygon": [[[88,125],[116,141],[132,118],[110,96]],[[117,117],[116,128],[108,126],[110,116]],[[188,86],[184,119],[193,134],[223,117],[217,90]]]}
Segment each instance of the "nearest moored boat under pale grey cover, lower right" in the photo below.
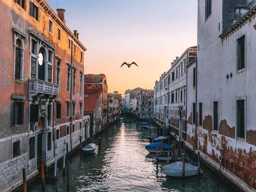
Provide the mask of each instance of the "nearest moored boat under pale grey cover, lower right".
{"label": "nearest moored boat under pale grey cover, lower right", "polygon": [[[183,163],[177,161],[163,167],[163,173],[169,177],[183,177],[182,174]],[[200,170],[200,174],[203,173],[203,170]],[[198,175],[198,167],[191,165],[190,163],[185,163],[185,177]]]}

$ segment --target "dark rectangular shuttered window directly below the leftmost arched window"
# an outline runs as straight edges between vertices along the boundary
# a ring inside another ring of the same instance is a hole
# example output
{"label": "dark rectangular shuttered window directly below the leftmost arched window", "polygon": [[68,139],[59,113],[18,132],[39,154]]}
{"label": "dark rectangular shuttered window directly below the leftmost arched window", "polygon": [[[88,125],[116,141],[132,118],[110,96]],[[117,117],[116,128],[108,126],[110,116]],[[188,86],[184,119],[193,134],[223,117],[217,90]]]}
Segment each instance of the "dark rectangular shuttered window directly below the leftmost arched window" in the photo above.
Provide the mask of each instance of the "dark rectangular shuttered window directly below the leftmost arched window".
{"label": "dark rectangular shuttered window directly below the leftmost arched window", "polygon": [[24,102],[14,101],[12,109],[12,125],[23,124]]}

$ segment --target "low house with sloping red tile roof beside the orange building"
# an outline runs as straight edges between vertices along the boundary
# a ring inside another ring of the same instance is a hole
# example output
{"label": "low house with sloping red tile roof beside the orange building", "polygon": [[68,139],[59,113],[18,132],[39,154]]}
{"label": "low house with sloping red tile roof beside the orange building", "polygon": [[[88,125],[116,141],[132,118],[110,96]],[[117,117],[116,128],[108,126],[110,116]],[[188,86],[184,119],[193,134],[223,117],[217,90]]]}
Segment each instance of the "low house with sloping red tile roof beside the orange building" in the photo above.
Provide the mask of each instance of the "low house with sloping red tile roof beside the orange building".
{"label": "low house with sloping red tile roof beside the orange building", "polygon": [[84,91],[84,116],[90,116],[90,136],[102,130],[102,92]]}

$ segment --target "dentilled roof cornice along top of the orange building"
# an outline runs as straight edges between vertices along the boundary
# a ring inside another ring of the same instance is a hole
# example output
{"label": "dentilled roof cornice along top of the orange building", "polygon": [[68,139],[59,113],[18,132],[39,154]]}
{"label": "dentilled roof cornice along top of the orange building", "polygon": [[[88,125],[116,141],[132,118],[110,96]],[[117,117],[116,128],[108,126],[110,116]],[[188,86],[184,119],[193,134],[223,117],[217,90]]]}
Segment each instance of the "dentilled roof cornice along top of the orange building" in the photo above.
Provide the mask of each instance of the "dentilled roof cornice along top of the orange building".
{"label": "dentilled roof cornice along top of the orange building", "polygon": [[56,15],[56,13],[50,8],[50,6],[44,0],[37,0],[37,2],[44,8],[44,10],[55,20],[59,26],[71,37],[76,44],[83,50],[86,51],[87,49],[83,44],[75,37],[75,35],[68,29],[68,27],[62,22],[62,20]]}

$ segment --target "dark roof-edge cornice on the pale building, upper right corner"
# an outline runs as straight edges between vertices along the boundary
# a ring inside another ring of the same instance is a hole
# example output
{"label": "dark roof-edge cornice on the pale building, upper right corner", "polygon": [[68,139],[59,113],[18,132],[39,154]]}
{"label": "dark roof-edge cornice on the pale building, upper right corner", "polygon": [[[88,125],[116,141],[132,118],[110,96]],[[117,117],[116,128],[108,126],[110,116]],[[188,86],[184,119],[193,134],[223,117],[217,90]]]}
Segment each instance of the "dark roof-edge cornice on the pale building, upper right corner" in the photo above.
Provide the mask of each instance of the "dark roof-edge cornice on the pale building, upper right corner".
{"label": "dark roof-edge cornice on the pale building, upper right corner", "polygon": [[255,17],[256,6],[249,10],[244,16],[242,16],[236,23],[231,25],[225,32],[223,32],[219,37],[223,40],[229,37],[230,34],[233,34],[237,29],[244,26],[245,23],[251,18]]}

